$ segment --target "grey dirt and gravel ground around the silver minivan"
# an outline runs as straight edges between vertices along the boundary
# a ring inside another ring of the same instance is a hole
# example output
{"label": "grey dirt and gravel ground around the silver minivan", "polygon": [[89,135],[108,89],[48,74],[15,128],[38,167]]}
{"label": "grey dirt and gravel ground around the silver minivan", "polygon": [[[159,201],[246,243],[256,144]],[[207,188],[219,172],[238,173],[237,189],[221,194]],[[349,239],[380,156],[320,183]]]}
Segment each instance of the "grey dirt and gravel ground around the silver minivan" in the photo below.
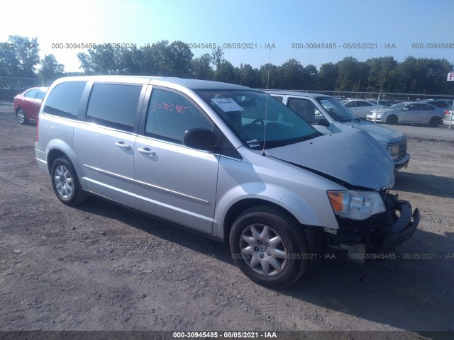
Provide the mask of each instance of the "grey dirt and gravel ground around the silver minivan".
{"label": "grey dirt and gravel ground around the silver minivan", "polygon": [[0,122],[0,331],[454,331],[454,131],[409,137],[393,191],[421,223],[396,259],[326,261],[270,290],[227,245],[97,198],[63,205],[35,125],[1,105]]}

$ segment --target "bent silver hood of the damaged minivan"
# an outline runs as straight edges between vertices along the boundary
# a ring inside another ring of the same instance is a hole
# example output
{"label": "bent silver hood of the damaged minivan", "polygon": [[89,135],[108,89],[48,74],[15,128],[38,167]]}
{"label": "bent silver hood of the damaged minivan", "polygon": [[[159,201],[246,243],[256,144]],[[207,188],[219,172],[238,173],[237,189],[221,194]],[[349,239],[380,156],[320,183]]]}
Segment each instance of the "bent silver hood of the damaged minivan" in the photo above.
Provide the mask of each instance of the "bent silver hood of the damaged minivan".
{"label": "bent silver hood of the damaged minivan", "polygon": [[365,131],[322,135],[267,149],[267,154],[334,177],[350,186],[380,191],[394,182],[391,157]]}

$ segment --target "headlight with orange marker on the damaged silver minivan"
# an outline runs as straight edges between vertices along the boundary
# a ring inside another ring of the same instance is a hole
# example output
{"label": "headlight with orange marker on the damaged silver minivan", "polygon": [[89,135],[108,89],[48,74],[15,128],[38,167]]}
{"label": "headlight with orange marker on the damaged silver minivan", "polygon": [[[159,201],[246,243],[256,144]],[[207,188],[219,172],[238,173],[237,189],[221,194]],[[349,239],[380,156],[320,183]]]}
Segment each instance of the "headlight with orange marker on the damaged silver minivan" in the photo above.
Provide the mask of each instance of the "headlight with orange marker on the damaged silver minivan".
{"label": "headlight with orange marker on the damaged silver minivan", "polygon": [[386,211],[376,191],[328,191],[328,198],[336,215],[352,220],[365,220]]}

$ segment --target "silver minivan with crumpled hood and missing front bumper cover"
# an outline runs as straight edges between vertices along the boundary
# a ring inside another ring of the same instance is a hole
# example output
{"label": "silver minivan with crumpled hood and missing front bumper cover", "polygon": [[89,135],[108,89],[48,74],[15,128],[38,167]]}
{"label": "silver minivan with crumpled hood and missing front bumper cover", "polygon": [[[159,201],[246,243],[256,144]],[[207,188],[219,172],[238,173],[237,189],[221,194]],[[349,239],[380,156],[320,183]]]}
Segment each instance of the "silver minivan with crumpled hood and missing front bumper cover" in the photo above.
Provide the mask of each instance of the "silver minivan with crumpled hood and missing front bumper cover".
{"label": "silver minivan with crumpled hood and missing front bumper cover", "polygon": [[323,135],[245,86],[58,79],[35,155],[62,203],[96,195],[228,242],[241,271],[270,287],[326,254],[386,255],[419,224],[419,211],[388,192],[394,164],[369,134]]}

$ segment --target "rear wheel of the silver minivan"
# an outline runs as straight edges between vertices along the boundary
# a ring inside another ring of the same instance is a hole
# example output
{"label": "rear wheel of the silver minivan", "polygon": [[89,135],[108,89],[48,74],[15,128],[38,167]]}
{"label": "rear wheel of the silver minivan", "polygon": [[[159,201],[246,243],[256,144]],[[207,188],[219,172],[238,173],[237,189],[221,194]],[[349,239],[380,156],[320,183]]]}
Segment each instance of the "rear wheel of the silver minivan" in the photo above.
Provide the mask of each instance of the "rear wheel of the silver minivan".
{"label": "rear wheel of the silver minivan", "polygon": [[77,205],[87,198],[74,166],[67,157],[57,158],[52,163],[50,182],[57,198],[66,205]]}

